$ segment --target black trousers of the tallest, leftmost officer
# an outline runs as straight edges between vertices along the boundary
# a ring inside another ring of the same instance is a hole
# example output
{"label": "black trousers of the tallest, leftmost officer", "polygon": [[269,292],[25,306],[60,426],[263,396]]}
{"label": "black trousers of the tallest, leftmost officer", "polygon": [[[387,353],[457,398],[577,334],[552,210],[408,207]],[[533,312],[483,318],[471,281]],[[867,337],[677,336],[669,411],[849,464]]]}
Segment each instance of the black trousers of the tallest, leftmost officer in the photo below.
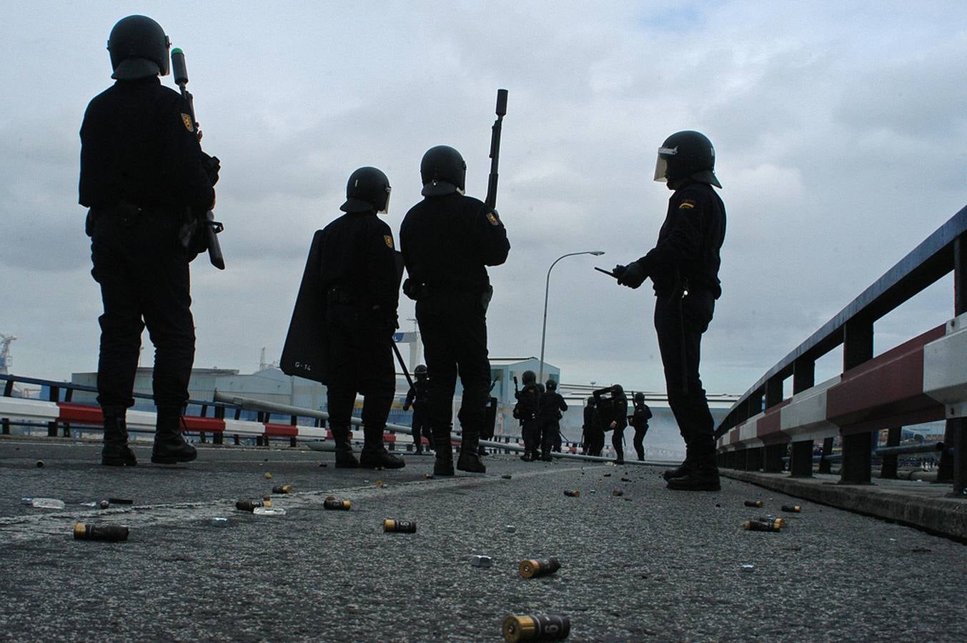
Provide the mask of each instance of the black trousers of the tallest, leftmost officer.
{"label": "black trousers of the tallest, leftmost officer", "polygon": [[104,308],[98,402],[134,404],[141,332],[147,326],[155,345],[155,404],[184,406],[194,362],[194,320],[178,216],[161,209],[129,216],[95,211],[92,219],[91,274],[101,284]]}

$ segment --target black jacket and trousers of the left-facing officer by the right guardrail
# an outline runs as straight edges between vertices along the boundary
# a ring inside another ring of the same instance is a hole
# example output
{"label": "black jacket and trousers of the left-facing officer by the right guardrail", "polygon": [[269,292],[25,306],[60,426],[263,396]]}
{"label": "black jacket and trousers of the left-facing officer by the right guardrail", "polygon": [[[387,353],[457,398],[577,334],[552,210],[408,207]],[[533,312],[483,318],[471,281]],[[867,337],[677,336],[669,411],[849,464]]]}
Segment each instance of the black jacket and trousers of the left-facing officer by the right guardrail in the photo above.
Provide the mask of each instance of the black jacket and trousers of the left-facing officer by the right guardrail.
{"label": "black jacket and trousers of the left-facing officer by the right guardrail", "polygon": [[655,284],[655,330],[668,404],[691,462],[715,459],[715,421],[698,362],[702,334],[721,295],[718,266],[724,237],[725,206],[718,193],[706,183],[689,181],[668,200],[658,244],[638,259]]}

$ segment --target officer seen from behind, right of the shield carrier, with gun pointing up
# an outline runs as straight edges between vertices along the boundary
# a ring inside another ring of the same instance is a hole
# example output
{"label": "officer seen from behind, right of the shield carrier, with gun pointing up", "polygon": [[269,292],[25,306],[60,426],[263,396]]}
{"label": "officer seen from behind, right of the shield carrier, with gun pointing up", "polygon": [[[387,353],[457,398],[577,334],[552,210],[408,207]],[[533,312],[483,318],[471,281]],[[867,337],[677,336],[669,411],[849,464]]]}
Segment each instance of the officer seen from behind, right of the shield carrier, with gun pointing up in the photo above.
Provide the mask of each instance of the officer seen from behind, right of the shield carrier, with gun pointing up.
{"label": "officer seen from behind, right of the shield carrier, with gun pointing up", "polygon": [[429,375],[433,472],[440,476],[454,475],[450,433],[457,374],[463,439],[456,468],[485,471],[478,447],[490,390],[486,308],[493,294],[486,266],[504,263],[511,248],[497,213],[464,195],[466,167],[452,147],[427,150],[420,163],[425,198],[399,227],[409,274],[404,292],[417,303]]}

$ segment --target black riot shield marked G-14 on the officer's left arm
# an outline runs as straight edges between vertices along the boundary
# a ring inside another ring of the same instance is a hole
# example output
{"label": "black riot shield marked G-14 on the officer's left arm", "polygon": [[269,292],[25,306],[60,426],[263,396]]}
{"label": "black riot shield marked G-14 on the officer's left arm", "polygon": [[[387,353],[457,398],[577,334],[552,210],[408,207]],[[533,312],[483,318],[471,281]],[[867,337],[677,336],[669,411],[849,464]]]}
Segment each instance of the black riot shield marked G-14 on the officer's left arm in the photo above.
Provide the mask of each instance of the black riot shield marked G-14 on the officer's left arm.
{"label": "black riot shield marked G-14 on the officer's left arm", "polygon": [[319,274],[321,255],[322,230],[316,230],[279,367],[286,375],[298,375],[326,384],[327,347],[323,333],[326,294],[322,292],[322,276]]}

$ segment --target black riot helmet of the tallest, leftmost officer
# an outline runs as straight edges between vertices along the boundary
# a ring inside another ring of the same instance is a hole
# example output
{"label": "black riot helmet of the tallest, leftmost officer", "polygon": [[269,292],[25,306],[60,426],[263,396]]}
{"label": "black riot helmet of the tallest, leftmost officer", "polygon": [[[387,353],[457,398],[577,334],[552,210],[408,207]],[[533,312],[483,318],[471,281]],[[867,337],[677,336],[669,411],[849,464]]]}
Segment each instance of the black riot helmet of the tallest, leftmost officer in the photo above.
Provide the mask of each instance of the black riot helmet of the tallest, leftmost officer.
{"label": "black riot helmet of the tallest, leftmost officer", "polygon": [[107,37],[112,78],[135,80],[168,74],[171,41],[161,25],[147,15],[129,15],[118,20]]}

